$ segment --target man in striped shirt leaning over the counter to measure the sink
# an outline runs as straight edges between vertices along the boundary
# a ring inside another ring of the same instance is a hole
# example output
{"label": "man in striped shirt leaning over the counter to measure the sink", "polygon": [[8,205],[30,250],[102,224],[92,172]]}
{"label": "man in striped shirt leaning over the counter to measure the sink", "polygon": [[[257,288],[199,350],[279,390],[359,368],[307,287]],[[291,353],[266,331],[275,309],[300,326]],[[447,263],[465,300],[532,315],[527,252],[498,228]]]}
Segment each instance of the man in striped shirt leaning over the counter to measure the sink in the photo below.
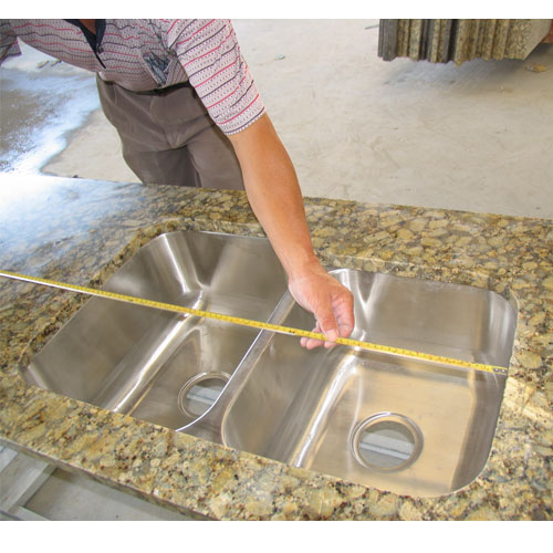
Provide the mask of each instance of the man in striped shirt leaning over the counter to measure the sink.
{"label": "man in striped shirt leaning over the counter to measure the sink", "polygon": [[[243,186],[325,347],[351,334],[352,294],[315,257],[293,165],[230,21],[6,20],[0,32],[0,62],[20,53],[21,39],[97,74],[104,113],[142,180]],[[322,344],[302,338],[307,348]]]}

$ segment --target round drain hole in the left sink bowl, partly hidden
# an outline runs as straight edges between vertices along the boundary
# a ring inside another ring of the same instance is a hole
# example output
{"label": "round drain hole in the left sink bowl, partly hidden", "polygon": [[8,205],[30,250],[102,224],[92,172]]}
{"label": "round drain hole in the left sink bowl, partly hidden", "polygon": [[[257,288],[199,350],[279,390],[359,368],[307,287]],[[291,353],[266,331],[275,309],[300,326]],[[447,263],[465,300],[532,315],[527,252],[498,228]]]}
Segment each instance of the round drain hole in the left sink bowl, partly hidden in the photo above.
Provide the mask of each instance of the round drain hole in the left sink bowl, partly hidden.
{"label": "round drain hole in the left sink bowl, partly hidden", "polygon": [[196,375],[180,388],[177,398],[178,408],[191,419],[200,417],[217,401],[229,378],[228,373]]}

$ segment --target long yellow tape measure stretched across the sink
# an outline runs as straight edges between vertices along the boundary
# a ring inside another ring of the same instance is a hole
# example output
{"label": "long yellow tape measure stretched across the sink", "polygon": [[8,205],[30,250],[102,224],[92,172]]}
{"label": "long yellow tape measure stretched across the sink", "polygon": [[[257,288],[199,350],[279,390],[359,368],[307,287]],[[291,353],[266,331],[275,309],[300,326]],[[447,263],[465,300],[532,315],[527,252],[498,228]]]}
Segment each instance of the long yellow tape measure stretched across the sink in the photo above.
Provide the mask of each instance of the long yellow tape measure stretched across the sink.
{"label": "long yellow tape measure stretched across the sink", "polygon": [[[69,292],[76,292],[76,293],[93,295],[93,296],[98,296],[98,298],[107,298],[109,300],[117,300],[121,302],[133,303],[135,305],[143,305],[146,307],[154,307],[154,309],[158,309],[158,310],[163,310],[163,311],[173,311],[175,313],[186,313],[188,315],[194,315],[194,316],[198,316],[198,317],[213,319],[216,321],[222,321],[222,322],[227,322],[227,323],[231,323],[231,324],[238,324],[241,326],[250,326],[250,327],[261,330],[261,331],[271,331],[271,332],[275,332],[279,334],[288,334],[288,335],[293,335],[293,336],[298,336],[298,337],[321,340],[323,342],[325,341],[325,336],[322,333],[303,331],[301,328],[281,326],[278,324],[263,323],[261,321],[252,321],[249,319],[242,319],[242,317],[232,316],[232,315],[223,315],[221,313],[213,313],[210,311],[201,311],[201,310],[196,310],[192,307],[185,307],[184,305],[176,305],[173,303],[157,302],[154,300],[146,300],[144,298],[136,298],[134,295],[125,295],[125,294],[119,294],[116,292],[108,292],[106,290],[98,290],[98,289],[94,289],[94,288],[80,286],[77,284],[69,284],[66,282],[59,282],[59,281],[50,280],[50,279],[41,279],[39,276],[30,276],[28,274],[20,274],[20,273],[15,273],[15,272],[11,272],[11,271],[0,271],[0,276],[4,276],[7,279],[12,279],[12,280],[24,281],[24,282],[31,282],[33,284],[43,284],[45,286],[58,288],[61,290],[66,290]],[[499,366],[494,366],[494,365],[484,365],[481,363],[472,363],[472,362],[468,362],[468,361],[455,359],[451,357],[442,357],[439,355],[432,355],[432,354],[422,353],[422,352],[413,352],[410,349],[403,349],[399,347],[392,347],[392,346],[386,346],[386,345],[380,345],[380,344],[372,344],[369,342],[361,342],[358,340],[353,340],[353,338],[338,337],[338,338],[336,338],[335,343],[341,344],[341,345],[345,345],[345,346],[349,346],[349,347],[368,349],[372,352],[388,353],[388,354],[393,354],[393,355],[398,355],[398,356],[403,356],[403,357],[410,357],[410,358],[427,361],[427,362],[431,362],[431,363],[439,363],[439,364],[452,365],[456,367],[462,367],[462,368],[468,368],[468,369],[482,371],[486,373],[507,374],[507,369],[504,367],[499,367]]]}

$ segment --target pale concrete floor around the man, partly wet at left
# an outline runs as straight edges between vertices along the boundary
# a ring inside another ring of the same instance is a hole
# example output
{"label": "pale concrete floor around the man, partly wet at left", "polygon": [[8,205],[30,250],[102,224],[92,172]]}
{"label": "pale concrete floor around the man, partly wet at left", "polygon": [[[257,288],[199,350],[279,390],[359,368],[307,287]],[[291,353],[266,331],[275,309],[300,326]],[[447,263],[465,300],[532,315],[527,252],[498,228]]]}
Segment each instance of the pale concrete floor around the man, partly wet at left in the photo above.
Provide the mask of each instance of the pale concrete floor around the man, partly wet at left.
{"label": "pale concrete floor around the man, partly wet at left", "polygon": [[[378,20],[234,28],[304,196],[553,219],[552,44],[434,65],[383,62]],[[0,170],[137,180],[92,75],[24,48],[0,76]],[[74,477],[49,482],[32,503],[49,518],[164,517]]]}

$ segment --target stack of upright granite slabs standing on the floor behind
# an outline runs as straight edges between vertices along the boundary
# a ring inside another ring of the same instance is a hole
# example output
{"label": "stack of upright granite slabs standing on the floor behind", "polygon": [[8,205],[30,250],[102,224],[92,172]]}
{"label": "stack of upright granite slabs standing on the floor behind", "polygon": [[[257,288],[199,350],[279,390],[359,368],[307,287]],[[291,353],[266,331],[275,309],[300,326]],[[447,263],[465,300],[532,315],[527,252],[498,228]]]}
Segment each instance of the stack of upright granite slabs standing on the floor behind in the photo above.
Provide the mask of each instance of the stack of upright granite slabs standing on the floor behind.
{"label": "stack of upright granite slabs standing on the floor behind", "polygon": [[378,56],[453,61],[525,60],[547,35],[550,19],[382,19]]}

